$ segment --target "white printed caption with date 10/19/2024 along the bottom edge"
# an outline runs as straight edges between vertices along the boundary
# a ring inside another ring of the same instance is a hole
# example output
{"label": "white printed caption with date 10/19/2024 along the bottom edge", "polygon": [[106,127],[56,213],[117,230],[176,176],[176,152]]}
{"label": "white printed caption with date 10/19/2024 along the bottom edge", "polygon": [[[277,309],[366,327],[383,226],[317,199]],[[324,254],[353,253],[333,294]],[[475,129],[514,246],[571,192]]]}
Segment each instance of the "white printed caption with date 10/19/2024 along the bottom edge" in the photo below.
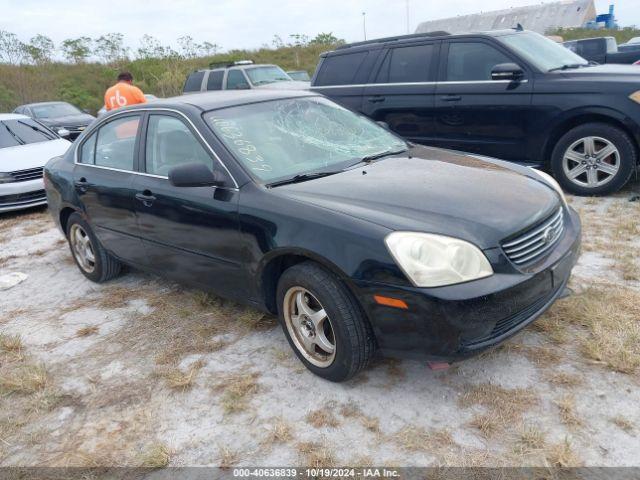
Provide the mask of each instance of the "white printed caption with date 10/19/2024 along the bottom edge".
{"label": "white printed caption with date 10/19/2024 along the bottom edge", "polygon": [[234,468],[236,478],[399,478],[393,468]]}

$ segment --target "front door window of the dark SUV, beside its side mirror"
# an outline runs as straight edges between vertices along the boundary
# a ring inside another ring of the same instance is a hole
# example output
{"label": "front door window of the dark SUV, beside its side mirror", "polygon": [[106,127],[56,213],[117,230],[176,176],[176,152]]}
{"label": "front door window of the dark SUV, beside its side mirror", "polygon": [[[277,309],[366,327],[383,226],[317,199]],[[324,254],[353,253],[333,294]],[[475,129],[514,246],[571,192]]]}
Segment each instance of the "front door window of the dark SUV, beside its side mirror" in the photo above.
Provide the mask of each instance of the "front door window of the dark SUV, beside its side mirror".
{"label": "front door window of the dark SUV, beside its side mirror", "polygon": [[491,45],[481,42],[450,43],[447,81],[491,80],[491,70],[511,59]]}

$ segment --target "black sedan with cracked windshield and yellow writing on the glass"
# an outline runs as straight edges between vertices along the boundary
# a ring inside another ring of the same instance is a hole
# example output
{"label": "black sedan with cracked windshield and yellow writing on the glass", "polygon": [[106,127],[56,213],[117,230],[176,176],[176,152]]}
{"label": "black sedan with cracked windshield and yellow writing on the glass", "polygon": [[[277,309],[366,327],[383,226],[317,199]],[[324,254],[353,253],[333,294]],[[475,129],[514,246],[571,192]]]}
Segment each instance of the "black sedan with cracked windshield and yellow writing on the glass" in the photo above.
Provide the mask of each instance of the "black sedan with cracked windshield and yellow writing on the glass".
{"label": "black sedan with cracked windshield and yellow writing on the glass", "polygon": [[462,359],[544,312],[580,221],[548,175],[407,143],[309,92],[111,112],[45,169],[80,271],[122,264],[278,314],[300,360]]}

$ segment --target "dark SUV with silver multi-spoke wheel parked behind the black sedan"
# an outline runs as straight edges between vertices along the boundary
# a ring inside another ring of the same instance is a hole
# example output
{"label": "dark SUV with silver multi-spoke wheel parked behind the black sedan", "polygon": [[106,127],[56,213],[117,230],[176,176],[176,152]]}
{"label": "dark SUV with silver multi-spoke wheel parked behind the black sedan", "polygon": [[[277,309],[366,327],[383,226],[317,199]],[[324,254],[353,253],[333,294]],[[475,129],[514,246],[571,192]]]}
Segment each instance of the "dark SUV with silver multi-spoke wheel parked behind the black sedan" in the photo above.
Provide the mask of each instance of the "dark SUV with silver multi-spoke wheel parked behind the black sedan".
{"label": "dark SUV with silver multi-spoke wheel parked behind the black sedan", "polygon": [[551,170],[582,195],[638,168],[640,68],[521,29],[414,34],[322,54],[312,90],[426,145]]}

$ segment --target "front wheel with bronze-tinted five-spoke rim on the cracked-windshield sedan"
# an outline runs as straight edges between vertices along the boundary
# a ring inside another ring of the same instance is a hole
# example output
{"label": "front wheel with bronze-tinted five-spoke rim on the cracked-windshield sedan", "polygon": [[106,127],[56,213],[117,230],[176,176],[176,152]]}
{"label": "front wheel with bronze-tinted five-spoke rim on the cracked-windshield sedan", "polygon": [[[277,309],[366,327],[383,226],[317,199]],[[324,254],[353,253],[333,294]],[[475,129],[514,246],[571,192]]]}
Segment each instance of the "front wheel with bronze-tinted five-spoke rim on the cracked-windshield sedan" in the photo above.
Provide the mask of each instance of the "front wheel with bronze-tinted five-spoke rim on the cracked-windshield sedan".
{"label": "front wheel with bronze-tinted five-spoke rim on the cracked-windshield sedan", "polygon": [[316,375],[342,382],[375,352],[368,320],[338,279],[315,263],[286,270],[278,282],[278,313],[298,358]]}

